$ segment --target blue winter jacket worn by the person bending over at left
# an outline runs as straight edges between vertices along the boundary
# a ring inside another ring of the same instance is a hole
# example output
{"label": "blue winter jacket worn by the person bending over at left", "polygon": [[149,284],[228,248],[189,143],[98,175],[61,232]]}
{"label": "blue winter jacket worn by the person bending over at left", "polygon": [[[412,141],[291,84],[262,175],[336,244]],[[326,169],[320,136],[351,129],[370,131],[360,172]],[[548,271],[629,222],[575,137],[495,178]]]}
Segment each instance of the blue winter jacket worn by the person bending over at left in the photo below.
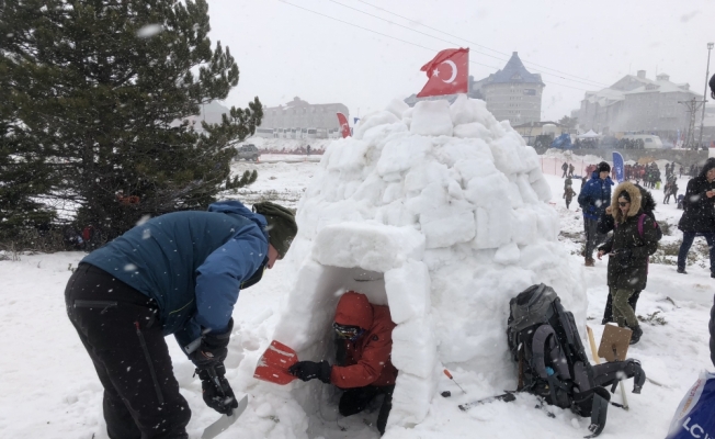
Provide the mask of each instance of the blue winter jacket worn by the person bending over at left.
{"label": "blue winter jacket worn by the person bending over at left", "polygon": [[238,201],[138,225],[82,262],[154,299],[164,335],[190,353],[203,330],[226,330],[241,283],[268,261],[268,223]]}

